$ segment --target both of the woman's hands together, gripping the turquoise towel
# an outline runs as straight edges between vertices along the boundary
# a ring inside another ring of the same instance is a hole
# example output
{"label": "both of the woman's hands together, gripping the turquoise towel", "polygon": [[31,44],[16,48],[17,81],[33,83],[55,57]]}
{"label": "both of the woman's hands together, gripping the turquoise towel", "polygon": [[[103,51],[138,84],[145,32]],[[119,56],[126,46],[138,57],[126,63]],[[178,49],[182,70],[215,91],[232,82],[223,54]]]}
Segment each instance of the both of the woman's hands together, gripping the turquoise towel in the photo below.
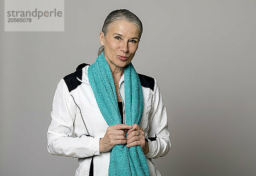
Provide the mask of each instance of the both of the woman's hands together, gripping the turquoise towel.
{"label": "both of the woman's hands together, gripping the turquoise towel", "polygon": [[[126,138],[126,133],[128,134]],[[139,136],[139,137],[138,137]],[[108,127],[105,136],[99,141],[100,152],[111,150],[116,144],[126,144],[126,147],[140,145],[144,154],[148,153],[148,143],[145,133],[138,124],[115,124]]]}

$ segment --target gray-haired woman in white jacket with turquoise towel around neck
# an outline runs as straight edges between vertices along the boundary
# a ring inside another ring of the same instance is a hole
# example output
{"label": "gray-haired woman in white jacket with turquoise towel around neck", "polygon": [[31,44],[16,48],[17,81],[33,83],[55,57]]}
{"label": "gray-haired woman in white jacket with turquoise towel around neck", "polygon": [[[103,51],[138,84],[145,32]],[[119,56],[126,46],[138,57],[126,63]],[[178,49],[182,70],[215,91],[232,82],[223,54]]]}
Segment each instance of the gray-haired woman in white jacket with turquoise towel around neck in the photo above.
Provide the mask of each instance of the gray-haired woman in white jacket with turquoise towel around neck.
{"label": "gray-haired woman in white jacket with turquoise towel around neck", "polygon": [[78,158],[76,176],[160,176],[151,159],[165,156],[171,142],[157,81],[131,63],[142,32],[135,14],[112,11],[95,63],[58,82],[47,150]]}

